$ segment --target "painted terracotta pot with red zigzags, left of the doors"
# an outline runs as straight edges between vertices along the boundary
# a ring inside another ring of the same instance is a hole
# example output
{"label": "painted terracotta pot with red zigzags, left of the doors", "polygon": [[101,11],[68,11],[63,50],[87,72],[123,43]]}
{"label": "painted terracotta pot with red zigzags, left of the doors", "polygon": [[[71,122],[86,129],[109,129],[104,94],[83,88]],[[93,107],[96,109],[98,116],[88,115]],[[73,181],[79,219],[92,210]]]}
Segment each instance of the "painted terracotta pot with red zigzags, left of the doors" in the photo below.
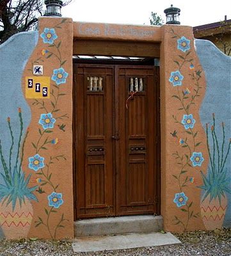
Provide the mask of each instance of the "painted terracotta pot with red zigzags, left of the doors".
{"label": "painted terracotta pot with red zigzags, left of the doors", "polygon": [[0,204],[0,227],[6,239],[27,237],[33,219],[33,207],[28,199],[20,206],[19,200],[13,211],[12,204]]}

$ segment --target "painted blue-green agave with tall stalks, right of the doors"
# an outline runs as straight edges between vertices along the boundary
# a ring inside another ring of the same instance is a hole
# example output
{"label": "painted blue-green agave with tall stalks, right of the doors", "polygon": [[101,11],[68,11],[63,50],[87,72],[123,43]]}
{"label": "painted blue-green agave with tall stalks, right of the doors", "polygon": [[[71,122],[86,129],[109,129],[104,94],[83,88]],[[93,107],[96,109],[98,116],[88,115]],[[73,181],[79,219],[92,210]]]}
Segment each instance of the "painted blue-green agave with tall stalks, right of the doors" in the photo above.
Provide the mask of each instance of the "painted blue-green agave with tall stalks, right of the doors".
{"label": "painted blue-green agave with tall stalks, right of the doors", "polygon": [[[225,147],[225,124],[222,123],[223,140],[221,145],[218,143],[218,138],[215,130],[215,115],[212,114],[213,125],[211,126],[212,145],[209,145],[209,129],[206,124],[206,136],[207,136],[207,149],[209,152],[209,170],[207,176],[202,172],[203,185],[199,188],[203,189],[205,193],[202,197],[202,202],[209,197],[209,202],[212,199],[218,198],[219,204],[221,204],[221,196],[225,197],[226,193],[230,193],[230,177],[227,175],[227,163],[228,154],[230,152],[231,139],[228,141],[228,147]],[[226,149],[226,152],[225,151]]]}

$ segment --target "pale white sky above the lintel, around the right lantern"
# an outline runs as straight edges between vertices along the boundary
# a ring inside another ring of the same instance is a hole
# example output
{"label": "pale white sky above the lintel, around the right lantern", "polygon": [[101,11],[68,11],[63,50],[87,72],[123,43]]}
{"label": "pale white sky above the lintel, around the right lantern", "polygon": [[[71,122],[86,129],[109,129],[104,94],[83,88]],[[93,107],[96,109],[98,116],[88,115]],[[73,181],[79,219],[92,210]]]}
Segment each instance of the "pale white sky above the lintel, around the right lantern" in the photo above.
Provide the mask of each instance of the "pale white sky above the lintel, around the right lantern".
{"label": "pale white sky above the lintel, around the right lantern", "polygon": [[181,10],[181,25],[218,22],[225,15],[231,19],[231,0],[72,0],[62,8],[62,15],[74,21],[149,25],[151,12],[156,12],[165,22],[164,9],[171,4]]}

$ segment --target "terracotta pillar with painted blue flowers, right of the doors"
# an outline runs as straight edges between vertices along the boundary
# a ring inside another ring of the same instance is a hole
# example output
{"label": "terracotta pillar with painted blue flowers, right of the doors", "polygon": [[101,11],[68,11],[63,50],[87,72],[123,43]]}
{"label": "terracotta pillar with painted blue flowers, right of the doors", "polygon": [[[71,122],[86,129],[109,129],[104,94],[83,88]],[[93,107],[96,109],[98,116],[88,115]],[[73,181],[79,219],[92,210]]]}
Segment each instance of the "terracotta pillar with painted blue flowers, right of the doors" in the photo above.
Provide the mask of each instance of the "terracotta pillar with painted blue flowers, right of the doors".
{"label": "terracotta pillar with painted blue flowers, right of the doors", "polygon": [[[162,29],[161,214],[166,230],[203,229],[200,189],[196,186],[202,182],[200,170],[207,169],[205,132],[199,116],[205,77],[196,56],[192,28]],[[196,164],[194,156],[202,152]]]}

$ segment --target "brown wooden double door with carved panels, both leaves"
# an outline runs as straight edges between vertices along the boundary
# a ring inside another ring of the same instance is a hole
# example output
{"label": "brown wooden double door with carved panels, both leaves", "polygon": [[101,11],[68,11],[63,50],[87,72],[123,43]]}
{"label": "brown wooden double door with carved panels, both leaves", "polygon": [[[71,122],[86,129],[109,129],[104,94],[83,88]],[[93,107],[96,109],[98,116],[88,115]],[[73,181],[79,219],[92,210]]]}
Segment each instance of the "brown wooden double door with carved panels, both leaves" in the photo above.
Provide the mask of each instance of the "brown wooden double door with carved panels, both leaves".
{"label": "brown wooden double door with carved panels, both leaves", "polygon": [[159,213],[158,77],[74,64],[76,219]]}

